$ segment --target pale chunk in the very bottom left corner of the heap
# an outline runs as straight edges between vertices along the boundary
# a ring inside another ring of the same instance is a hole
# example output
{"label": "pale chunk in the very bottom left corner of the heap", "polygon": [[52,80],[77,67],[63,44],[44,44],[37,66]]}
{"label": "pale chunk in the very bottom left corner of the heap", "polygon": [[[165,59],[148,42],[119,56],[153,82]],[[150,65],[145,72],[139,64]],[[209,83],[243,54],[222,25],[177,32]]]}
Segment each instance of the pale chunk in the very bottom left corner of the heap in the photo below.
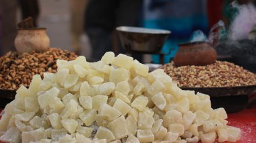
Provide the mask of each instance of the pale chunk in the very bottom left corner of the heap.
{"label": "pale chunk in the very bottom left corner of the heap", "polygon": [[15,127],[10,127],[8,130],[5,132],[0,137],[1,142],[13,142],[13,143],[18,143],[21,141],[21,136],[20,136],[20,130]]}

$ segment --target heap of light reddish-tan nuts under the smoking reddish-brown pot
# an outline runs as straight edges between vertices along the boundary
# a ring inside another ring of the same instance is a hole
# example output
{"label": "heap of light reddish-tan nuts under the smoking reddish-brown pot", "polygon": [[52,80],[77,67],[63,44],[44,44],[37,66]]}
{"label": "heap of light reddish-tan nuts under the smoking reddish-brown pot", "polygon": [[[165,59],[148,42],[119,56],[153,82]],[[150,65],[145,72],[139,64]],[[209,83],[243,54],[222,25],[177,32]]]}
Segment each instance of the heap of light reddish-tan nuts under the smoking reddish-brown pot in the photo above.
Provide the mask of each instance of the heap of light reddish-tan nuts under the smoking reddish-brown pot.
{"label": "heap of light reddish-tan nuts under the smoking reddish-brown pot", "polygon": [[164,72],[179,87],[234,87],[256,85],[256,75],[230,62],[216,61],[206,66],[164,64]]}

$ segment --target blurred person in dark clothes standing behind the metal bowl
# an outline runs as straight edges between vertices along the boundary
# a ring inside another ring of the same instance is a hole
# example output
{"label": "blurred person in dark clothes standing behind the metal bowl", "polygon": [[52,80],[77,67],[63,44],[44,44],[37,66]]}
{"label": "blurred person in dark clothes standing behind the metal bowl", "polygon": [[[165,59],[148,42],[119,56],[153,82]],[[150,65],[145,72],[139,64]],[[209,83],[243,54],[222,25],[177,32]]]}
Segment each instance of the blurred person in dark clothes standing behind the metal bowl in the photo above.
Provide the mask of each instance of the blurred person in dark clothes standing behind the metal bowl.
{"label": "blurred person in dark clothes standing behind the metal bowl", "polygon": [[[88,1],[85,28],[92,46],[92,61],[100,60],[107,51],[114,50],[116,54],[125,52],[117,44],[115,28],[139,26],[141,4],[141,0]],[[135,58],[141,61],[141,56],[135,55]]]}

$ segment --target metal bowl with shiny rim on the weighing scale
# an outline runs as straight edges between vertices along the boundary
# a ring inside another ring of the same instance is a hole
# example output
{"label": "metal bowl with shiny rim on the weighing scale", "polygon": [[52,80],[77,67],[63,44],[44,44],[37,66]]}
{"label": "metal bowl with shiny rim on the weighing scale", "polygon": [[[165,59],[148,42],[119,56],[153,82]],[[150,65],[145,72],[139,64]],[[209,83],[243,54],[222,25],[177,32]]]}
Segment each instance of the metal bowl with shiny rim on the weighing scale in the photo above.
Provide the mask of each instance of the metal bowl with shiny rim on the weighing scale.
{"label": "metal bowl with shiny rim on the weighing scale", "polygon": [[160,54],[170,31],[121,26],[116,28],[128,53]]}

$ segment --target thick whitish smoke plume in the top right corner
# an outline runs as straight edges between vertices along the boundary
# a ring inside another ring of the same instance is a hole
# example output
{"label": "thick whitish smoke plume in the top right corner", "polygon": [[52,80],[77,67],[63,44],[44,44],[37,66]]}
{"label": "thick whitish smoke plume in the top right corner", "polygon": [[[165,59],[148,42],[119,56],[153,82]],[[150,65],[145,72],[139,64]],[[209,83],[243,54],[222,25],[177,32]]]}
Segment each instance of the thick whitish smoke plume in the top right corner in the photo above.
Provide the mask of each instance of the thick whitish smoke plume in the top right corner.
{"label": "thick whitish smoke plume in the top right corner", "polygon": [[252,30],[253,25],[256,23],[255,6],[252,3],[248,3],[247,5],[239,5],[237,1],[234,1],[230,4],[228,10],[237,10],[237,13],[230,25],[228,39],[248,39],[248,34]]}

